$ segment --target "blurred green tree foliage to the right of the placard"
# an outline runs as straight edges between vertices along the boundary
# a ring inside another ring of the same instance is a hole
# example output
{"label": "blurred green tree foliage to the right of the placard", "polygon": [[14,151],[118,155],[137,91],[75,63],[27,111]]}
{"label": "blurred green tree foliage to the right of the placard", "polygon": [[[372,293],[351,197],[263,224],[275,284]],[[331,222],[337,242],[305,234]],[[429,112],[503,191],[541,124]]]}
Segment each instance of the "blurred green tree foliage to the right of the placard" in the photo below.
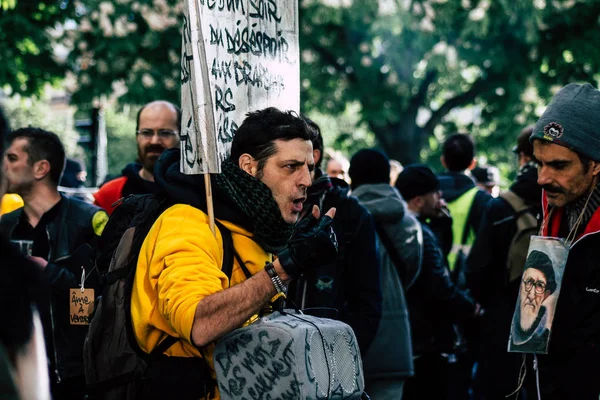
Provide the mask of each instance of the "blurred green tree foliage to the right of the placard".
{"label": "blurred green tree foliage to the right of the placard", "polygon": [[[403,163],[458,129],[502,161],[556,87],[594,82],[600,67],[596,0],[324,3],[302,1],[303,106],[338,113],[359,102]],[[462,125],[461,107],[472,112]]]}

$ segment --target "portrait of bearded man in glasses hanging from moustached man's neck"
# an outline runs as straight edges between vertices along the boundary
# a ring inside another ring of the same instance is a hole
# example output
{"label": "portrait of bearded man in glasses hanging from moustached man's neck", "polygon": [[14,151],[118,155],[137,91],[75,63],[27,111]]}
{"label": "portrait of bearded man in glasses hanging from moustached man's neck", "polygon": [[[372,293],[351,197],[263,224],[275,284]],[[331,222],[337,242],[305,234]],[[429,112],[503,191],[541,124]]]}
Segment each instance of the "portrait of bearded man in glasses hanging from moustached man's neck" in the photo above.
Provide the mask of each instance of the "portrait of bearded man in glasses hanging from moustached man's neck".
{"label": "portrait of bearded man in glasses hanging from moustached man's neck", "polygon": [[508,351],[548,354],[552,321],[569,246],[563,239],[532,236],[508,340]]}

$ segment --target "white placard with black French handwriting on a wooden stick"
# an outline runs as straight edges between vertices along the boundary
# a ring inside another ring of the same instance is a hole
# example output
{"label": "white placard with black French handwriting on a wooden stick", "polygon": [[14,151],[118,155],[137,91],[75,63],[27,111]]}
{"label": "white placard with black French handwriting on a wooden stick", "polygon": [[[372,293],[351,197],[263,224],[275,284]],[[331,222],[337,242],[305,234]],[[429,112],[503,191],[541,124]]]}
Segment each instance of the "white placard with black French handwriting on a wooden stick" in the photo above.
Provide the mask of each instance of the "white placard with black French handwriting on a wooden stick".
{"label": "white placard with black French handwriting on a wooden stick", "polygon": [[186,0],[181,172],[221,172],[250,111],[298,111],[297,0]]}

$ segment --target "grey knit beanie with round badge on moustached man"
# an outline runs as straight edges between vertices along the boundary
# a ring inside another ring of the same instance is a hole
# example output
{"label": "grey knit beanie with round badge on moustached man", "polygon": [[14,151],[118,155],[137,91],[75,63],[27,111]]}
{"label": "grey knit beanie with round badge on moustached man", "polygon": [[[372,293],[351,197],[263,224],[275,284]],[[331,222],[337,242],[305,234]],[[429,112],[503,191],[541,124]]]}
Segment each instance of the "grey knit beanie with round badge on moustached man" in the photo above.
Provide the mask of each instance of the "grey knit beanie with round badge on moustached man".
{"label": "grey knit beanie with round badge on moustached man", "polygon": [[600,161],[600,91],[571,83],[556,93],[529,141],[556,143]]}

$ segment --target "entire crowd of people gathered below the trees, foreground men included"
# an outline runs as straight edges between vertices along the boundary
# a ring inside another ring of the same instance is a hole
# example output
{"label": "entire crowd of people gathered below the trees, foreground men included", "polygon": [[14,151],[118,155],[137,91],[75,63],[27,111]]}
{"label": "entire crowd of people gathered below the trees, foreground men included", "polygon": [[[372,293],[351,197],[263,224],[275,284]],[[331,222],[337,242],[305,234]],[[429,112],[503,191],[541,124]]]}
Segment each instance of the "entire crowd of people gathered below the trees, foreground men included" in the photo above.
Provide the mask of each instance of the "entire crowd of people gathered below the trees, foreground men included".
{"label": "entire crowd of people gathered below the trees, foreground men included", "polygon": [[[595,400],[598,107],[589,84],[561,89],[535,125],[512,133],[518,172],[506,189],[497,167],[478,164],[468,133],[446,138],[434,171],[377,148],[345,159],[307,117],[255,111],[210,178],[214,210],[204,179],[180,172],[175,104],[139,110],[137,155],[91,196],[79,190],[85,165],[66,158],[55,133],[10,129],[0,116],[0,397],[116,398],[114,387],[134,382],[137,398],[218,398],[212,344],[280,297],[352,328],[362,398]],[[95,317],[87,305],[113,283],[99,261],[105,237],[143,195],[162,208],[130,242],[130,336],[119,340],[168,360],[99,388],[84,354]],[[531,256],[538,236],[566,243],[566,266]],[[182,359],[208,367],[174,363]],[[188,368],[196,379],[182,383]]]}

